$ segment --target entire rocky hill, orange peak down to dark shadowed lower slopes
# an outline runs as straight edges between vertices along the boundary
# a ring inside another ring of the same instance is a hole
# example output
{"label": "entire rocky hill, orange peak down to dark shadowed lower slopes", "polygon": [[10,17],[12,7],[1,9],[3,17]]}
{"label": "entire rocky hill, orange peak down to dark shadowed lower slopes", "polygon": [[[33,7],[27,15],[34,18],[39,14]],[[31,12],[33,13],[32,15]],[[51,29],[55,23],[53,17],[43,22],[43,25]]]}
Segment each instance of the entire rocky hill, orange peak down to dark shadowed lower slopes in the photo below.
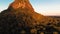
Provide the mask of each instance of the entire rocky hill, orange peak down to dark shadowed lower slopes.
{"label": "entire rocky hill, orange peak down to dark shadowed lower slopes", "polygon": [[38,14],[29,0],[15,0],[0,13],[0,34],[60,33],[60,20]]}

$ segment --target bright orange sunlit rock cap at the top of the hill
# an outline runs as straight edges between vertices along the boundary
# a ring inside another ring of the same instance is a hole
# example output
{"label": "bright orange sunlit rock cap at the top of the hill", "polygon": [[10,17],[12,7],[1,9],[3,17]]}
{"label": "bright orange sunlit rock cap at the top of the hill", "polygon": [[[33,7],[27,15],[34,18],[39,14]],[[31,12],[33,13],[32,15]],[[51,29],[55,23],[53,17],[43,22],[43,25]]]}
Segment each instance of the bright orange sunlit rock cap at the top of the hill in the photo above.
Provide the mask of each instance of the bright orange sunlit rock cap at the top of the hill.
{"label": "bright orange sunlit rock cap at the top of the hill", "polygon": [[18,8],[24,9],[28,8],[29,10],[34,10],[29,2],[29,0],[15,0],[13,3],[10,4],[15,10]]}

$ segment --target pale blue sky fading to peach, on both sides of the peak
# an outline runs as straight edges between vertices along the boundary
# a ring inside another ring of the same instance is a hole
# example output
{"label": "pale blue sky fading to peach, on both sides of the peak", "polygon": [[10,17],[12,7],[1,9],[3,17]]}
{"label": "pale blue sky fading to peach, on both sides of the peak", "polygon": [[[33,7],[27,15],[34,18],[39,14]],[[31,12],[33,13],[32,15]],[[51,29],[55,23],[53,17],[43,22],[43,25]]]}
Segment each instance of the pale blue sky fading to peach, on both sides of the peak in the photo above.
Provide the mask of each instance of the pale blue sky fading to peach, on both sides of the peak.
{"label": "pale blue sky fading to peach, on both sides of the peak", "polygon": [[[0,12],[7,9],[14,0],[0,0]],[[30,0],[37,13],[60,16],[60,0]]]}

